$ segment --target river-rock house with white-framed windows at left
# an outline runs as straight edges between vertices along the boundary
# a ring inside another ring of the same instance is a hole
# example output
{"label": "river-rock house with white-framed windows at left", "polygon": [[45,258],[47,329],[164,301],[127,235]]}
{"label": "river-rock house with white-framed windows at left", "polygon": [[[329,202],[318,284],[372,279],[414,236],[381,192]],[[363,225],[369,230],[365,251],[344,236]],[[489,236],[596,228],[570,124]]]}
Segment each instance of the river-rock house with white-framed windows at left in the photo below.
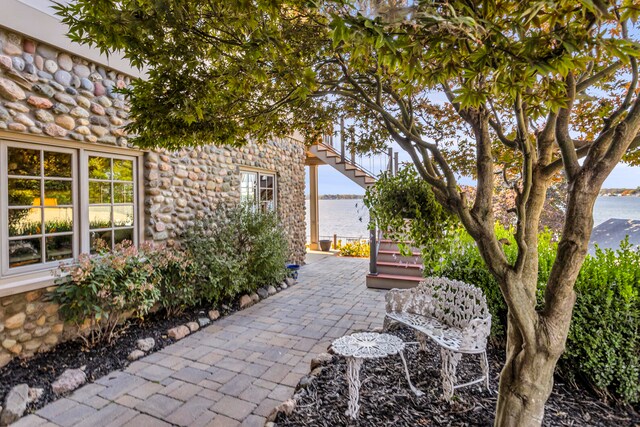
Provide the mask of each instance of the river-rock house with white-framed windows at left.
{"label": "river-rock house with white-framed windows at left", "polygon": [[3,0],[0,15],[0,367],[71,331],[44,296],[60,262],[97,239],[171,243],[241,200],[276,210],[290,259],[305,253],[305,146],[141,151],[114,88],[142,77],[71,43],[46,0]]}

